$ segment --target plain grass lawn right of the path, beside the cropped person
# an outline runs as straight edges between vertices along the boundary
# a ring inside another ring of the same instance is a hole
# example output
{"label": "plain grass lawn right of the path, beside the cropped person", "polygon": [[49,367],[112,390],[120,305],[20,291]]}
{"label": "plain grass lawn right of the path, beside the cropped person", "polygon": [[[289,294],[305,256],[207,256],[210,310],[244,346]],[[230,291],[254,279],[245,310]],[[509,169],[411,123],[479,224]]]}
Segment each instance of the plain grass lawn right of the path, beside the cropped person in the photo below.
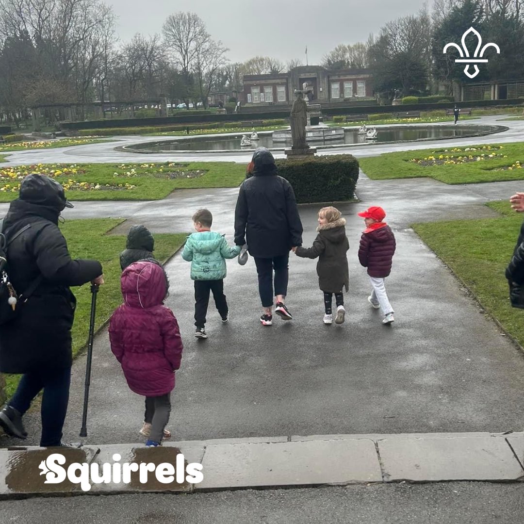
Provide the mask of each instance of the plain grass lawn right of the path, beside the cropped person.
{"label": "plain grass lawn right of the path, beside the cropped person", "polygon": [[475,294],[520,345],[524,345],[524,312],[512,308],[504,276],[523,215],[508,202],[490,202],[500,218],[414,224],[422,240]]}

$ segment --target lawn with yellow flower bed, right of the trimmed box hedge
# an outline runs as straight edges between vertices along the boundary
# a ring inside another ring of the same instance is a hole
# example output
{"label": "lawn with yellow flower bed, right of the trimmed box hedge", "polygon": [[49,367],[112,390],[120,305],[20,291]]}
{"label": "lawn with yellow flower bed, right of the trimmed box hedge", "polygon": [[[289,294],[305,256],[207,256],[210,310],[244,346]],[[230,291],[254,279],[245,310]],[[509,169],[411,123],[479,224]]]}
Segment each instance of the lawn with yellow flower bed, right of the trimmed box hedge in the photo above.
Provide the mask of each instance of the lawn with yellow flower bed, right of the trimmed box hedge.
{"label": "lawn with yellow flower bed, right of the trimmed box hedge", "polygon": [[430,177],[446,184],[524,179],[524,144],[433,147],[359,158],[373,180]]}

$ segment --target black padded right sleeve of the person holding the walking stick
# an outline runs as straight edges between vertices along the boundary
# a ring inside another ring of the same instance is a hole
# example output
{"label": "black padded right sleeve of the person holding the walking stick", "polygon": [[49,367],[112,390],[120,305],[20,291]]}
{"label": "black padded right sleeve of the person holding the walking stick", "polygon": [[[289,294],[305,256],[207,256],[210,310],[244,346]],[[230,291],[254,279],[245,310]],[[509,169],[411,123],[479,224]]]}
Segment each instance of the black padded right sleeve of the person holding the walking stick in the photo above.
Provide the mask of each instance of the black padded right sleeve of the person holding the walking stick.
{"label": "black padded right sleeve of the person holding the walking stick", "polygon": [[33,252],[38,269],[52,282],[64,286],[81,286],[102,275],[99,261],[71,259],[67,242],[54,224],[42,227],[35,238]]}

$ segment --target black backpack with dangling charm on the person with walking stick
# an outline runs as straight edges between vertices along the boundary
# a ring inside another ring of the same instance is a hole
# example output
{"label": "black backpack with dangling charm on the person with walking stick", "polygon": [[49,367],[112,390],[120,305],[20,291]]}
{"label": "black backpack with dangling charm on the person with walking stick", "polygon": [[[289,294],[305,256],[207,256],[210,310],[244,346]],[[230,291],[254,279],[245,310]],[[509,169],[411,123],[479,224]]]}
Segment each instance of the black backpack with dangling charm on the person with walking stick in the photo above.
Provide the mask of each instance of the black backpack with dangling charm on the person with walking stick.
{"label": "black backpack with dangling charm on the person with walking stick", "polygon": [[20,306],[35,292],[36,288],[43,279],[39,275],[33,280],[25,292],[18,294],[12,283],[9,281],[9,261],[8,247],[14,239],[27,231],[31,224],[21,227],[16,233],[11,234],[11,230],[4,231],[4,219],[0,220],[0,325],[6,324],[16,318],[20,311]]}

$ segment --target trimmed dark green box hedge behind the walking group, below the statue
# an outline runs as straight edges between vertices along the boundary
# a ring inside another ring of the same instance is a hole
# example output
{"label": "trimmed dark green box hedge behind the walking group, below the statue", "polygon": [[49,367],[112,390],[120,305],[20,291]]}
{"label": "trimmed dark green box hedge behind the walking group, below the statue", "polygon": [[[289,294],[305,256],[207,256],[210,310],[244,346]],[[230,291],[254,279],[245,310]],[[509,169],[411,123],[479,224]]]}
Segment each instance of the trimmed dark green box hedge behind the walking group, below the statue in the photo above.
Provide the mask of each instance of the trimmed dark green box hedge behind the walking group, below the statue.
{"label": "trimmed dark green box hedge behind the walking group, below the statue", "polygon": [[358,160],[353,155],[276,161],[278,174],[289,181],[299,204],[352,199],[358,180]]}

